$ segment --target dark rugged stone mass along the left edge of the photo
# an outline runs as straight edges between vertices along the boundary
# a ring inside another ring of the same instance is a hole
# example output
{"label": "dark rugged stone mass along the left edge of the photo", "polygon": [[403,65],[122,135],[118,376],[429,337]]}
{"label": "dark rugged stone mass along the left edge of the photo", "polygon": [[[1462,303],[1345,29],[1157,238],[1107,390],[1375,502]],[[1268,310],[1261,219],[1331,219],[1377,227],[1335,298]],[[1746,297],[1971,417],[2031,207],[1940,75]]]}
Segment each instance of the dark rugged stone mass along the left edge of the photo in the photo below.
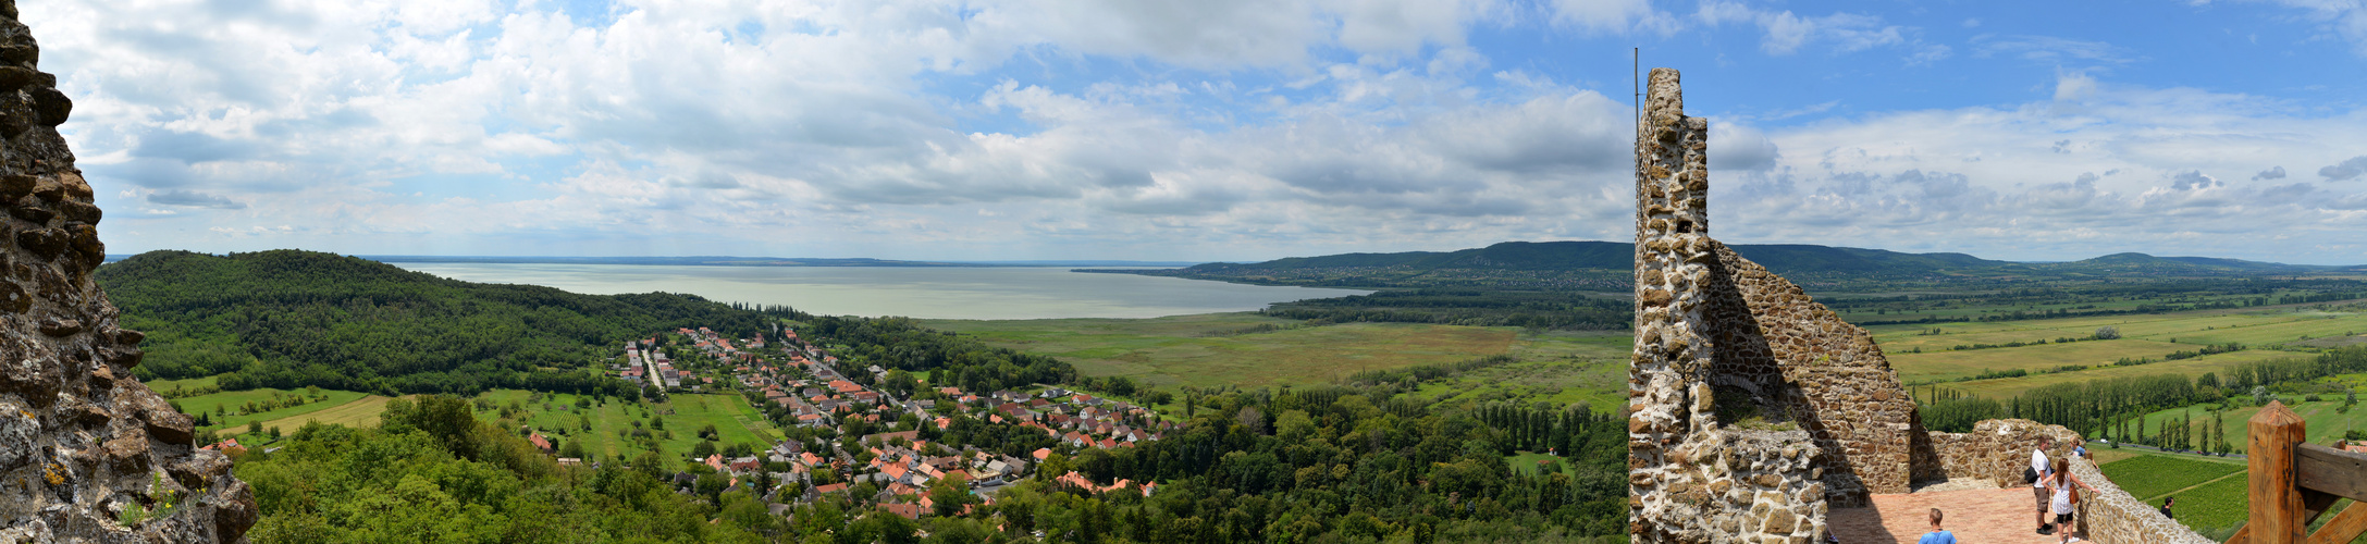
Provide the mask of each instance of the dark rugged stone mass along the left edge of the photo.
{"label": "dark rugged stone mass along the left edge of the photo", "polygon": [[0,0],[0,542],[239,542],[253,492],[133,378],[140,333],[90,281],[99,208],[38,59]]}

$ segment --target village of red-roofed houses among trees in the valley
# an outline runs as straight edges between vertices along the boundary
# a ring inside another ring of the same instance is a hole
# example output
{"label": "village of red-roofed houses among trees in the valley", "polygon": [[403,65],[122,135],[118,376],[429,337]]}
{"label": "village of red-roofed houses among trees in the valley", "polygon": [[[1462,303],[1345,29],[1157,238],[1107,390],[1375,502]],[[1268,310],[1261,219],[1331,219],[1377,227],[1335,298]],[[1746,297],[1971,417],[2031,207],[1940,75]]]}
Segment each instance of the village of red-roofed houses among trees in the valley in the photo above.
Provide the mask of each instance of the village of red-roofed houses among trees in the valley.
{"label": "village of red-roofed houses among trees in the valley", "polygon": [[[772,338],[757,333],[739,341],[705,326],[675,329],[627,341],[611,371],[644,390],[736,393],[767,414],[765,423],[786,440],[741,456],[724,452],[698,456],[703,452],[698,449],[682,459],[672,485],[684,494],[712,492],[701,490],[701,478],[712,475],[722,480],[722,490],[750,490],[765,497],[774,513],[824,497],[845,497],[921,518],[937,513],[937,501],[944,501],[947,492],[963,497],[961,509],[947,513],[961,513],[994,504],[999,490],[1023,478],[1051,480],[1077,492],[1148,497],[1157,490],[1155,483],[1096,485],[1077,471],[1044,475],[1041,468],[1060,468],[1063,459],[1086,449],[1131,447],[1179,428],[1153,409],[1058,386],[1032,390],[930,386],[925,376],[840,360],[791,329],[776,329]],[[525,435],[547,454],[559,454],[554,440],[540,430],[528,428]],[[1001,445],[982,447],[959,442],[963,435],[1046,440],[999,440]],[[1015,449],[1020,442],[1044,447]],[[559,464],[582,464],[582,459],[561,456]]]}

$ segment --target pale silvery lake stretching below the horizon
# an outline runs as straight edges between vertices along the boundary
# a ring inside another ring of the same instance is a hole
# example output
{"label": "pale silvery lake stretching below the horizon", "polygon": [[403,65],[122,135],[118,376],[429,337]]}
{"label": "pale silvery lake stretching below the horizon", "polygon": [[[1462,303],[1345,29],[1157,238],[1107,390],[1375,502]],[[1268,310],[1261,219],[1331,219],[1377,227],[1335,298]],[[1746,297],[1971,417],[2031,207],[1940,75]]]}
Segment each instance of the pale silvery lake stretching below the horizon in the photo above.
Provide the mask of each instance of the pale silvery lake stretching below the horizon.
{"label": "pale silvery lake stretching below the horizon", "polygon": [[817,315],[923,319],[1165,317],[1247,312],[1271,303],[1361,296],[1359,289],[1245,286],[1202,279],[1084,274],[1068,267],[694,267],[544,263],[391,263],[481,284],[575,293],[694,293],[722,303],[793,305]]}

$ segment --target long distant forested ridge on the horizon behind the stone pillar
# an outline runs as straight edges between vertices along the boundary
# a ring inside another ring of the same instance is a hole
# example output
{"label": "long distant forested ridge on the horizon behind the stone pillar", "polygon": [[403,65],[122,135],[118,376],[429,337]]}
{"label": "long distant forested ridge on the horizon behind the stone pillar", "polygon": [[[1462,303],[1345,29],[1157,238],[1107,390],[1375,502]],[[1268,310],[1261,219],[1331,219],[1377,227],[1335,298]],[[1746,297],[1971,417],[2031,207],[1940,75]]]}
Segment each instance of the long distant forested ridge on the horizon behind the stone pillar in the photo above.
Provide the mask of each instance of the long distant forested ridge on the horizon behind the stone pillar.
{"label": "long distant forested ridge on the horizon behind the stone pillar", "polygon": [[[1735,253],[1768,270],[1811,281],[1913,277],[2258,277],[2313,274],[2339,267],[2279,265],[2232,258],[2156,258],[2116,253],[2073,263],[2010,263],[1965,253],[1898,253],[1808,244],[1740,244]],[[1226,279],[1302,286],[1494,286],[1624,291],[1636,263],[1626,241],[1503,241],[1465,251],[1342,253],[1266,263],[1207,263],[1134,274]],[[1120,270],[1112,270],[1120,272]]]}

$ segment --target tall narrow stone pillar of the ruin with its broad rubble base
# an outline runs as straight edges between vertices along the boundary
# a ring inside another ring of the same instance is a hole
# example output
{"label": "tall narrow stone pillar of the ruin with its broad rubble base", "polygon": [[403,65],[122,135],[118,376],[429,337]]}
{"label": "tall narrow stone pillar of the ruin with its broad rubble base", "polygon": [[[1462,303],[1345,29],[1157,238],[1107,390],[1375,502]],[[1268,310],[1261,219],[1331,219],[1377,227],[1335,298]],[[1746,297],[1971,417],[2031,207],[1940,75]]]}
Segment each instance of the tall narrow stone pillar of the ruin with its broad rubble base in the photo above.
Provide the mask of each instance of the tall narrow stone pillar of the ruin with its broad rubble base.
{"label": "tall narrow stone pillar of the ruin with its broad rubble base", "polygon": [[[1709,123],[1652,69],[1636,132],[1636,352],[1628,364],[1628,535],[1638,542],[1811,542],[1832,449],[1806,430],[1728,428],[1711,386],[1718,244]],[[1730,312],[1730,307],[1726,310]]]}

